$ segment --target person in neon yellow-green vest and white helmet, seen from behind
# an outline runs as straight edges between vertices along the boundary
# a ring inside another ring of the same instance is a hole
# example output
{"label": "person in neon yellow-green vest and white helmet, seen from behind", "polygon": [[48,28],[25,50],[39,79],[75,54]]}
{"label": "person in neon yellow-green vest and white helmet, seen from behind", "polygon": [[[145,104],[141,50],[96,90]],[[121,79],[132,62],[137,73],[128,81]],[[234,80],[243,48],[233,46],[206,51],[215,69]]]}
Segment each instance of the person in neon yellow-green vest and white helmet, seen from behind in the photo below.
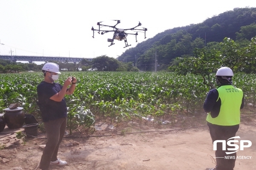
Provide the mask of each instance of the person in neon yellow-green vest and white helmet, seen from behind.
{"label": "person in neon yellow-green vest and white helmet, seen from behind", "polygon": [[[234,148],[227,145],[227,140],[235,137],[239,129],[240,109],[244,107],[244,95],[241,89],[233,86],[233,75],[230,68],[219,68],[216,73],[218,88],[210,90],[204,102],[212,143],[216,140],[226,141],[226,150],[222,150],[222,143],[217,142],[216,167],[206,170],[233,170],[235,167],[236,153],[226,154],[228,148]],[[234,159],[225,159],[225,156]]]}

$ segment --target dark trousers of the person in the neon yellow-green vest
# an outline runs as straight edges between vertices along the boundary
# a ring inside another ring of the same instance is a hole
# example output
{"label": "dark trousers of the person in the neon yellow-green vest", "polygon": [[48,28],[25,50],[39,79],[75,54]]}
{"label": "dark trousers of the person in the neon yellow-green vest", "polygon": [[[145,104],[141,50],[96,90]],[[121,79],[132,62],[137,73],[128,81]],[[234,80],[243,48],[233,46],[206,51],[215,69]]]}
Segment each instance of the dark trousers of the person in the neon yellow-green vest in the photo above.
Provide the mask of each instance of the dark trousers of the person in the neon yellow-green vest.
{"label": "dark trousers of the person in the neon yellow-green vest", "polygon": [[[230,152],[227,150],[227,148],[234,148],[227,145],[227,139],[230,139],[236,136],[236,132],[239,129],[239,125],[219,126],[219,125],[213,125],[209,122],[207,122],[207,125],[209,126],[212,143],[215,140],[226,141],[226,150],[222,150],[221,142],[217,143],[217,150],[215,151],[215,157],[216,157],[216,163],[217,163],[216,169],[217,170],[233,170],[236,162],[236,153],[227,155],[225,152]],[[236,139],[230,139],[230,140],[236,140]],[[225,159],[225,156],[232,156],[232,157],[235,156],[235,159]],[[218,158],[218,157],[221,157],[221,158]]]}

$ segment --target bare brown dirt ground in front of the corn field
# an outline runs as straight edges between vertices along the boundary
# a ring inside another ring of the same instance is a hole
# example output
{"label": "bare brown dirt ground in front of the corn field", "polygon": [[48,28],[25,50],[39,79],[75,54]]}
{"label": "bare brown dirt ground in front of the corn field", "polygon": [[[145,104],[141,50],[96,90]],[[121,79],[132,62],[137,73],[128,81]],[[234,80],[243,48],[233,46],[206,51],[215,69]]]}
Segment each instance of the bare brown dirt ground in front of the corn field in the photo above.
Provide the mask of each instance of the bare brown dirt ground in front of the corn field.
{"label": "bare brown dirt ground in front of the corn field", "polygon": [[[256,116],[251,115],[252,112],[242,115],[246,117],[241,118],[236,135],[241,140],[252,142],[251,147],[239,150],[237,156],[251,158],[237,159],[234,170],[256,169]],[[50,170],[205,170],[207,167],[215,167],[211,158],[215,156],[215,151],[208,127],[205,126],[205,117],[205,113],[198,113],[186,120],[185,124],[179,123],[184,122],[180,121],[184,118],[180,118],[176,125],[129,122],[116,127],[108,122],[99,122],[96,131],[90,136],[113,135],[64,138],[58,157],[68,164],[64,167],[52,165]],[[131,132],[140,133],[129,134]],[[88,134],[84,130],[76,131],[72,136],[86,136],[85,133]],[[122,135],[114,135],[120,133]],[[38,133],[38,137],[45,135]],[[79,142],[79,145],[66,146],[73,141]],[[0,157],[10,160],[6,164],[0,163],[0,170],[38,170],[42,155],[39,145],[45,143],[46,139],[26,139],[20,147],[0,150]]]}

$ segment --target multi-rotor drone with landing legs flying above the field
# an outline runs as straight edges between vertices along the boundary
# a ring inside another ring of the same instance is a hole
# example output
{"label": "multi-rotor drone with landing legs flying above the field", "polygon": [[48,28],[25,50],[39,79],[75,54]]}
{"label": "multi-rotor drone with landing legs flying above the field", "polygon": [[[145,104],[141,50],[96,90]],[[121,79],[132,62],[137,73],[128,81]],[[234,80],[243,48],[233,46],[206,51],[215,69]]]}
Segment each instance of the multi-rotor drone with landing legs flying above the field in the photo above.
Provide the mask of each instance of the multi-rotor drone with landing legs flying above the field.
{"label": "multi-rotor drone with landing legs flying above the field", "polygon": [[[120,23],[120,20],[114,20],[114,21],[117,21],[116,25]],[[140,22],[139,22],[139,24],[138,24],[137,26],[135,26],[135,27],[133,27],[133,28],[128,28],[128,29],[120,29],[120,28],[116,28],[116,25],[114,25],[114,26],[107,26],[107,25],[103,25],[103,24],[101,24],[101,23],[102,23],[102,22],[98,22],[98,23],[97,23],[97,25],[99,26],[99,29],[94,29],[94,28],[92,27],[93,38],[94,38],[94,31],[98,31],[99,34],[100,34],[100,31],[102,31],[102,32],[101,32],[102,35],[105,34],[105,33],[108,33],[108,32],[113,32],[113,33],[114,33],[114,34],[113,34],[113,38],[112,38],[112,39],[111,39],[111,38],[108,38],[108,42],[111,42],[111,44],[109,45],[109,47],[110,47],[111,45],[114,45],[114,44],[115,44],[115,43],[114,43],[114,40],[119,40],[119,41],[124,40],[124,41],[125,41],[125,47],[131,46],[131,45],[128,45],[128,42],[127,42],[127,40],[126,40],[126,37],[128,36],[128,34],[135,35],[135,37],[136,37],[136,42],[137,42],[137,35],[138,35],[138,32],[136,32],[135,34],[132,34],[132,33],[127,33],[127,32],[125,32],[125,31],[128,31],[128,30],[132,30],[132,31],[133,31],[133,30],[144,31],[145,38],[146,38],[146,31],[148,31],[147,28],[135,29],[135,28],[137,28],[138,26],[141,26],[141,23],[140,23]],[[110,28],[113,28],[113,30],[101,30],[101,29],[100,29],[101,26],[102,26],[102,27],[110,27]],[[134,32],[135,32],[135,31],[134,31]],[[124,48],[125,48],[125,47],[124,47]]]}

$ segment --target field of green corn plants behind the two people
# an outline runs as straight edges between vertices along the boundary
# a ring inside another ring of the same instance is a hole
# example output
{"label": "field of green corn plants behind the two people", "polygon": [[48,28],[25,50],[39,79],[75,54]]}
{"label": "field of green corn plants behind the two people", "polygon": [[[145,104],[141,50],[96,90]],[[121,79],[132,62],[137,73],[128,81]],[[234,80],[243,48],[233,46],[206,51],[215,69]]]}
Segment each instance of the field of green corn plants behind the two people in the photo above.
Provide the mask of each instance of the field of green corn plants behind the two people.
{"label": "field of green corn plants behind the two people", "polygon": [[[118,125],[145,117],[169,116],[172,122],[180,114],[201,111],[209,91],[200,75],[175,72],[63,72],[58,80],[63,84],[66,77],[77,77],[73,95],[67,95],[68,127],[70,134],[78,127],[90,127],[95,117]],[[42,73],[0,74],[0,113],[11,103],[19,103],[26,113],[40,120],[36,105],[37,85],[43,80]],[[214,74],[209,74],[214,82]],[[255,74],[236,73],[234,85],[244,91],[245,102],[256,104]],[[31,109],[31,106],[35,107]],[[156,122],[157,123],[157,122]]]}

